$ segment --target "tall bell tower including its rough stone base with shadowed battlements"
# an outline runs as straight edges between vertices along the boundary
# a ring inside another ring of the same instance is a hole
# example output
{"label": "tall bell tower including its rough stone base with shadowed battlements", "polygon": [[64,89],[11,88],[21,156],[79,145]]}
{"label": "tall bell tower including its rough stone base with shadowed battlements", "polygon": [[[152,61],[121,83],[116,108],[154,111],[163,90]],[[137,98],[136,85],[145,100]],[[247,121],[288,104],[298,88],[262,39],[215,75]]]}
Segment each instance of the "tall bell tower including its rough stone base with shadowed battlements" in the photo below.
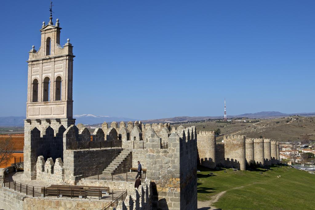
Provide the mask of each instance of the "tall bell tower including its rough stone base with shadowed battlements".
{"label": "tall bell tower including its rough stone base with shadowed battlements", "polygon": [[43,22],[41,46],[29,52],[26,120],[24,122],[24,177],[36,179],[36,160],[63,158],[63,133],[72,118],[72,44],[60,45],[59,19]]}

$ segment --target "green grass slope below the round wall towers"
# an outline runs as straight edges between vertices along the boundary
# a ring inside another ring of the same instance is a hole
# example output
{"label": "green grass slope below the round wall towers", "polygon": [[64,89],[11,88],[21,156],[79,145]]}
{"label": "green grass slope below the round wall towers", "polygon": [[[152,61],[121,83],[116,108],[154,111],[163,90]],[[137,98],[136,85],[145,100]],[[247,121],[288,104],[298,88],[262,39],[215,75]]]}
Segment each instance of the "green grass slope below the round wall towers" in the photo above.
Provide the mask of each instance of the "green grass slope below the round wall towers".
{"label": "green grass slope below the round wall towers", "polygon": [[213,204],[217,208],[315,209],[315,174],[284,166],[273,166],[268,171],[226,169],[226,173],[198,169],[201,171],[198,172],[198,200],[211,200],[212,196],[226,191]]}

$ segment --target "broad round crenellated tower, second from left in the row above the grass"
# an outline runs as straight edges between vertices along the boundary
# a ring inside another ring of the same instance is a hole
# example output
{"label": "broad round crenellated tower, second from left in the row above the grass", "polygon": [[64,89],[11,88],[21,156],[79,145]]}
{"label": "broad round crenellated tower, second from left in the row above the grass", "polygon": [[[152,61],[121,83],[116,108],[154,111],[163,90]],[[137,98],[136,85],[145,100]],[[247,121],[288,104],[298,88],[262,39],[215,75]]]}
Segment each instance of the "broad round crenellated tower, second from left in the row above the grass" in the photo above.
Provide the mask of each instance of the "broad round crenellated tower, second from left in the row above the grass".
{"label": "broad round crenellated tower, second from left in the row above the grass", "polygon": [[226,166],[246,170],[245,136],[226,136],[224,139]]}

